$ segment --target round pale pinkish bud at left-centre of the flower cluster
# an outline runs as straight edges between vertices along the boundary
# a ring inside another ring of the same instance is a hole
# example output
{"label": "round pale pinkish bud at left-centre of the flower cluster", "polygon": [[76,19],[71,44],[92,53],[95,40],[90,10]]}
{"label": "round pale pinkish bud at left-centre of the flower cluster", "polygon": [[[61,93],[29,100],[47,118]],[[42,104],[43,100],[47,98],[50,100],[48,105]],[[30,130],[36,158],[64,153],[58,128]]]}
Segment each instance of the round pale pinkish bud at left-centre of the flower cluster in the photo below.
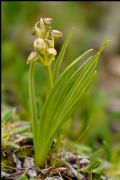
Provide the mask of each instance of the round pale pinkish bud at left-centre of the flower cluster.
{"label": "round pale pinkish bud at left-centre of the flower cluster", "polygon": [[45,49],[45,41],[42,38],[37,38],[34,41],[34,48],[37,50]]}

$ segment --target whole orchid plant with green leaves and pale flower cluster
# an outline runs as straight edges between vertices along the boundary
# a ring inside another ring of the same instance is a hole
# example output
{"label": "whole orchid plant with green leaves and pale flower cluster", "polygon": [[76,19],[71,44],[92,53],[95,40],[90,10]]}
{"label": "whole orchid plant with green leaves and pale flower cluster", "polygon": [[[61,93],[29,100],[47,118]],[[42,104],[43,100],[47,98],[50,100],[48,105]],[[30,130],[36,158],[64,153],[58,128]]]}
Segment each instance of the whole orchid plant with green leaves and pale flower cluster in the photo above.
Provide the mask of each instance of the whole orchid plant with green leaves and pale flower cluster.
{"label": "whole orchid plant with green leaves and pale flower cluster", "polygon": [[[69,45],[73,28],[68,33],[54,66],[52,66],[57,55],[55,40],[61,38],[63,33],[51,29],[51,24],[52,18],[40,18],[35,24],[32,31],[36,37],[33,43],[34,51],[30,53],[27,59],[33,143],[35,162],[38,166],[44,164],[56,133],[70,119],[80,98],[89,89],[96,76],[99,57],[109,42],[107,40],[98,52],[81,63],[93,49],[86,51],[60,73],[60,66]],[[49,89],[39,116],[34,85],[35,63],[43,64],[48,71],[49,78]]]}

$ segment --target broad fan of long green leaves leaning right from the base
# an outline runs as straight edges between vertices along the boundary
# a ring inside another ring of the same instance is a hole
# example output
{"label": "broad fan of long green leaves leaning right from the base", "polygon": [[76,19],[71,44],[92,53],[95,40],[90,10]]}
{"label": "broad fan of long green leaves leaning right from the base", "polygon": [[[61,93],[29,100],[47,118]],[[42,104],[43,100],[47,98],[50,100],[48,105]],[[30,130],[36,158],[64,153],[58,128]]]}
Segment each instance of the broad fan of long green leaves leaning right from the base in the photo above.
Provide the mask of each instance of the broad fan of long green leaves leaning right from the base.
{"label": "broad fan of long green leaves leaning right from the base", "polygon": [[[95,55],[79,66],[80,62],[86,58],[91,50],[85,52],[73,61],[56,79],[46,98],[41,117],[37,120],[36,129],[34,129],[36,131],[36,160],[39,165],[44,163],[56,132],[70,118],[81,96],[87,92],[93,82],[99,56],[107,44],[108,41],[101,46]],[[54,77],[57,75],[59,65],[57,65],[58,69],[56,68]]]}

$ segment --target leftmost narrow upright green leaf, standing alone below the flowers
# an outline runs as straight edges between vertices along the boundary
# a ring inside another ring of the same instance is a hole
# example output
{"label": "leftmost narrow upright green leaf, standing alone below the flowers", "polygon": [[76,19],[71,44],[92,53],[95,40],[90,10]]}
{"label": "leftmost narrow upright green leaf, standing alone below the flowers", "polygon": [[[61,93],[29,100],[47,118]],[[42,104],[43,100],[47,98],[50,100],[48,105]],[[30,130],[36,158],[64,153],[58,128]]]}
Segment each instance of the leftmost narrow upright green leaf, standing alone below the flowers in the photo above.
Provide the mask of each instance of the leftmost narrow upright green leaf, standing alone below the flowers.
{"label": "leftmost narrow upright green leaf, standing alone below the flowers", "polygon": [[33,131],[33,143],[36,151],[37,146],[37,108],[36,108],[36,97],[35,97],[35,85],[33,78],[34,63],[30,64],[29,74],[28,74],[28,89],[30,98],[30,112],[32,118],[32,131]]}

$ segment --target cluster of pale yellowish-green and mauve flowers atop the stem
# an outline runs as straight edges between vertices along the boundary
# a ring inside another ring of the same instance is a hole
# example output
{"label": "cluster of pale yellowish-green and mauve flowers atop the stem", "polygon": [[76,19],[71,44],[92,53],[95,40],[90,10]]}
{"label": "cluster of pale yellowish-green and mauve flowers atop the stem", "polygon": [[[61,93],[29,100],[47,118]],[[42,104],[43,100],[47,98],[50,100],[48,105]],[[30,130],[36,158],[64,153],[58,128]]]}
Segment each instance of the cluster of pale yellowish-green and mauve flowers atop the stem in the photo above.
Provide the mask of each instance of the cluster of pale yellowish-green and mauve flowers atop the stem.
{"label": "cluster of pale yellowish-green and mauve flowers atop the stem", "polygon": [[49,66],[55,60],[57,51],[54,48],[55,39],[63,36],[63,33],[58,30],[50,30],[49,25],[52,23],[52,18],[40,18],[32,30],[32,35],[36,37],[33,43],[35,52],[32,52],[27,64],[38,61],[45,66]]}

